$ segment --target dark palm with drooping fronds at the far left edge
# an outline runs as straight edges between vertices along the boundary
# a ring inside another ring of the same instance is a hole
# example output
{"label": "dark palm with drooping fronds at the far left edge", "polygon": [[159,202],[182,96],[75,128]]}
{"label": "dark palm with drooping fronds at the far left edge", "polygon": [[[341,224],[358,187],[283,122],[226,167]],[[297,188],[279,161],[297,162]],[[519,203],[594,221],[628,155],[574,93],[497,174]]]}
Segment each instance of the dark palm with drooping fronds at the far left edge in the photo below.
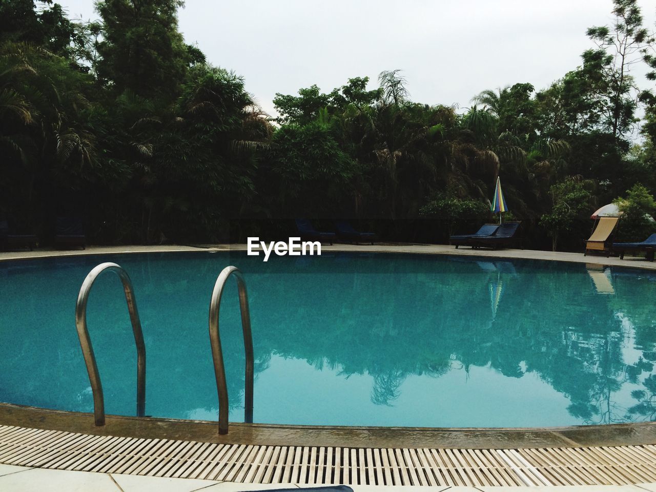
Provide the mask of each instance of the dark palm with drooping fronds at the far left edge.
{"label": "dark palm with drooping fronds at the far left edge", "polygon": [[96,162],[91,77],[25,43],[0,45],[0,212],[24,227],[79,203]]}

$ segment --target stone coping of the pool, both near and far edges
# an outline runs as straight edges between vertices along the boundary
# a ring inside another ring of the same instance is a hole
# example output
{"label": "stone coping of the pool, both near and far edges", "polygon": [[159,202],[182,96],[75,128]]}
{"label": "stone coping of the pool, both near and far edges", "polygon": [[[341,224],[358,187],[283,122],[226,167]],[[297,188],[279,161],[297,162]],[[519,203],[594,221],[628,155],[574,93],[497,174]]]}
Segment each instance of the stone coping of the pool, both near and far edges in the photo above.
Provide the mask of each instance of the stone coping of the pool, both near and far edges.
{"label": "stone coping of the pool, both near and far edges", "polygon": [[[119,246],[89,247],[78,251],[22,251],[0,253],[0,261],[47,258],[51,256],[87,256],[127,253],[245,251],[242,244],[197,246]],[[583,256],[537,250],[455,249],[446,245],[379,244],[324,245],[325,252],[415,253],[488,258],[550,260],[621,266],[656,270],[656,263],[642,258],[625,259]],[[157,419],[151,417],[108,416],[104,428],[94,426],[91,414],[40,409],[0,403],[0,424],[47,430],[70,430],[92,435],[141,438],[200,440],[213,443],[248,443],[267,445],[326,445],[351,447],[452,447],[491,449],[499,447],[580,447],[610,445],[644,445],[656,443],[656,422],[601,424],[547,428],[411,428],[358,426],[297,426],[282,424],[231,423],[226,436],[218,436],[216,422],[202,420]]]}

